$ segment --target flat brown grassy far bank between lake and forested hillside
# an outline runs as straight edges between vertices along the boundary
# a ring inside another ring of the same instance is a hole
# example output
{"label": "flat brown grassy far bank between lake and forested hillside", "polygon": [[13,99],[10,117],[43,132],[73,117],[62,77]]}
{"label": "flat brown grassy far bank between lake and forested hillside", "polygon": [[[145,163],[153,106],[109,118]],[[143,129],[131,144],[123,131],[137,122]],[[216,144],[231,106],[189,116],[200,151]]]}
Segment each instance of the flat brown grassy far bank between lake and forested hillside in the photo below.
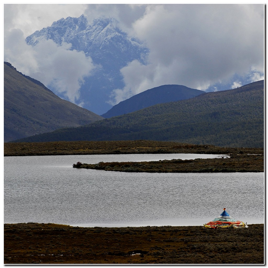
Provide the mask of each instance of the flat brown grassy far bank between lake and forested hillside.
{"label": "flat brown grassy far bank between lake and forested hillside", "polygon": [[151,140],[4,143],[4,156],[178,153],[263,154],[264,148],[226,148]]}

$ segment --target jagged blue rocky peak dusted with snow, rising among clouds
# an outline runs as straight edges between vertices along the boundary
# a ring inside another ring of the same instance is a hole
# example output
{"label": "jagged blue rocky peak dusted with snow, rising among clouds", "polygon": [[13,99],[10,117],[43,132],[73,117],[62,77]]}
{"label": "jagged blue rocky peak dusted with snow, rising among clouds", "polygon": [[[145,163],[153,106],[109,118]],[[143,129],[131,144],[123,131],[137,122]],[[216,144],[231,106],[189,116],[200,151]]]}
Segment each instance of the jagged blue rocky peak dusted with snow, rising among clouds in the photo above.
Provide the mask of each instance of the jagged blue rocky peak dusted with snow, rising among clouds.
{"label": "jagged blue rocky peak dusted with snow, rising among clouds", "polygon": [[[95,19],[91,25],[84,15],[55,21],[50,27],[34,32],[26,38],[28,45],[35,46],[42,39],[51,39],[56,44],[71,43],[71,50],[84,51],[95,66],[94,73],[85,77],[80,88],[79,103],[96,114],[103,114],[112,105],[108,103],[114,89],[123,88],[120,69],[133,60],[146,63],[149,49],[139,40],[127,36],[117,27],[114,18]],[[57,88],[50,87],[59,97]]]}

